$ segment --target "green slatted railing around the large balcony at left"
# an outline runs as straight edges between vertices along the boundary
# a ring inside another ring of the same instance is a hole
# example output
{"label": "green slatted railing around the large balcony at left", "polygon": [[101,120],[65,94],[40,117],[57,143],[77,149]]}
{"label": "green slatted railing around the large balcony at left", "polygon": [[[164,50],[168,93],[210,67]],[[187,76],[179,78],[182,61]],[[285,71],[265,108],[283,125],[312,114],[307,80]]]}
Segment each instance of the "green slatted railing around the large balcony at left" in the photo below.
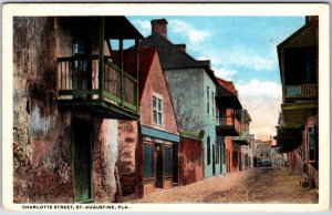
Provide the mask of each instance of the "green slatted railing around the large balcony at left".
{"label": "green slatted railing around the large balcony at left", "polygon": [[97,55],[75,55],[58,59],[58,100],[102,101],[137,112],[137,80],[122,71],[110,59],[104,60],[100,76]]}

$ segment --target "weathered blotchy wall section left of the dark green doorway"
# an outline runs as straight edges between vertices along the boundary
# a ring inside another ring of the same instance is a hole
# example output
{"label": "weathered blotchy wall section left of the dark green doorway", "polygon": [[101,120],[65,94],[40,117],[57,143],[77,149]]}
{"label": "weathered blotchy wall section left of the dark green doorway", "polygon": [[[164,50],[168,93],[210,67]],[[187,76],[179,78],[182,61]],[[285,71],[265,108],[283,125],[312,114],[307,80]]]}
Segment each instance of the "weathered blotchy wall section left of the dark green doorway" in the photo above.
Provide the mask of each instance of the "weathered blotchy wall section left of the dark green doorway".
{"label": "weathered blotchy wall section left of the dark green doorway", "polygon": [[71,114],[58,112],[54,18],[13,19],[14,202],[72,202]]}

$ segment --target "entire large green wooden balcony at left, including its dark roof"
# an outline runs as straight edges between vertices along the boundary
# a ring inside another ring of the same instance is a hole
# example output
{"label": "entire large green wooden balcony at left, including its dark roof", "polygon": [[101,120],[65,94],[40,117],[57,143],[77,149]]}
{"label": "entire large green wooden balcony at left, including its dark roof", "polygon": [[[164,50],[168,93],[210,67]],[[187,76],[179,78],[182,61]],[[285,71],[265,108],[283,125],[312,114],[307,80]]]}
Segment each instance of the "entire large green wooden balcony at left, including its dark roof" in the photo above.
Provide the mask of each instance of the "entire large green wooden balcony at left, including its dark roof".
{"label": "entire large green wooden balcony at left, including its dark roof", "polygon": [[[62,17],[58,28],[59,109],[138,120],[138,41],[143,35],[125,17]],[[124,69],[124,41],[135,47],[132,73]],[[116,63],[114,52],[121,55]]]}

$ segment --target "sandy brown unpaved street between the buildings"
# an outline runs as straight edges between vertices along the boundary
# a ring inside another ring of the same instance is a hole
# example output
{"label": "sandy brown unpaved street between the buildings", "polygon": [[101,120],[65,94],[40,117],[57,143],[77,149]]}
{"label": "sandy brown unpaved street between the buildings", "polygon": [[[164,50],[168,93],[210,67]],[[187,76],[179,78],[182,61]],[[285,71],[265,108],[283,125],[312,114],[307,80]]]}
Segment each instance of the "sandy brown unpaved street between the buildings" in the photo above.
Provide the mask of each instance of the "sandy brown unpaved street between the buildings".
{"label": "sandy brown unpaved street between the buildings", "polygon": [[300,186],[301,175],[284,168],[251,168],[170,190],[129,203],[318,203],[318,192]]}

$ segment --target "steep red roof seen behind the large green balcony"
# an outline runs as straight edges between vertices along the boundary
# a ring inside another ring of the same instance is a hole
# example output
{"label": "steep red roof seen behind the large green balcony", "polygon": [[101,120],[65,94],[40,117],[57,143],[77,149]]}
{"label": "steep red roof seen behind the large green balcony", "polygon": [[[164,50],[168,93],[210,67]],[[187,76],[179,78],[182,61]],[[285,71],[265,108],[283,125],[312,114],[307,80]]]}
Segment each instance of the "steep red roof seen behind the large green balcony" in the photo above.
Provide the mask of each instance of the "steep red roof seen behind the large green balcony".
{"label": "steep red roof seen behind the large green balcony", "polygon": [[[139,73],[138,73],[138,81],[139,81],[139,101],[143,95],[143,91],[145,88],[145,83],[151,71],[152,63],[154,61],[155,54],[157,54],[157,48],[139,48],[138,49],[138,61],[139,61]],[[135,50],[128,49],[124,51],[124,70],[128,72],[131,75],[136,76],[136,69],[135,69]],[[120,54],[118,52],[114,52],[114,63],[120,64]]]}

